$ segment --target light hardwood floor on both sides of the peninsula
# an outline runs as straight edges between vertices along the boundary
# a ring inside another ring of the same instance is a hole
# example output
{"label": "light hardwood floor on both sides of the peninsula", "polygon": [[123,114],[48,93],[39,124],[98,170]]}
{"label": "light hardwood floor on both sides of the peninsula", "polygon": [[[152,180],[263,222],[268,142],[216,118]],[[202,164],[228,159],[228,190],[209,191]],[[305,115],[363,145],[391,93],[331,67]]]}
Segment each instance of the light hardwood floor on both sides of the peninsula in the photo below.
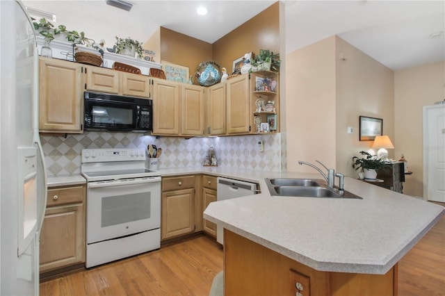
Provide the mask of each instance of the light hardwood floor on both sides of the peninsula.
{"label": "light hardwood floor on both sides of the peninsula", "polygon": [[[40,295],[209,295],[223,251],[207,236],[40,283]],[[399,296],[445,295],[445,216],[398,265]]]}

